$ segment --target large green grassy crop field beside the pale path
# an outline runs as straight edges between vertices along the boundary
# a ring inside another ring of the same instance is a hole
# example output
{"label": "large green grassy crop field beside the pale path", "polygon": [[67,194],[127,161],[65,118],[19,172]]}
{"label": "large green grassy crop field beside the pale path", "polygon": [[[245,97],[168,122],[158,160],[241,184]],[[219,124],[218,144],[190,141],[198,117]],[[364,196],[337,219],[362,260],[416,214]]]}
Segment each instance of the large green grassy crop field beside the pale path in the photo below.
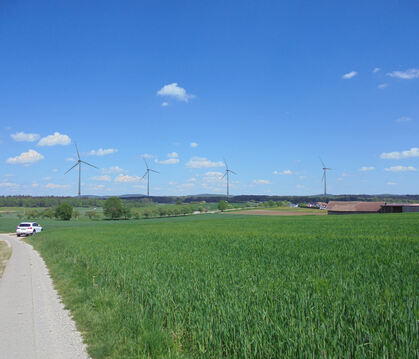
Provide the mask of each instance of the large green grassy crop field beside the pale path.
{"label": "large green grassy crop field beside the pale path", "polygon": [[93,358],[415,358],[419,216],[71,223],[31,239]]}

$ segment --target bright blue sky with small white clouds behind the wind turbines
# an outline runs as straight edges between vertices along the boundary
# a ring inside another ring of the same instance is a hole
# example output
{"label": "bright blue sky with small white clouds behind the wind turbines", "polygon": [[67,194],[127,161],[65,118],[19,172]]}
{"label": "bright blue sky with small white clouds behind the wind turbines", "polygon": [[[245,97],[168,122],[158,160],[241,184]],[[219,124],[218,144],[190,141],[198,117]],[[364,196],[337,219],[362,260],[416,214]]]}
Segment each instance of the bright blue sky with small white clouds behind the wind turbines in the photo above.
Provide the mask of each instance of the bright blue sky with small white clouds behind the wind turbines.
{"label": "bright blue sky with small white clouds behind the wind turbines", "polygon": [[0,195],[417,194],[417,1],[3,1]]}

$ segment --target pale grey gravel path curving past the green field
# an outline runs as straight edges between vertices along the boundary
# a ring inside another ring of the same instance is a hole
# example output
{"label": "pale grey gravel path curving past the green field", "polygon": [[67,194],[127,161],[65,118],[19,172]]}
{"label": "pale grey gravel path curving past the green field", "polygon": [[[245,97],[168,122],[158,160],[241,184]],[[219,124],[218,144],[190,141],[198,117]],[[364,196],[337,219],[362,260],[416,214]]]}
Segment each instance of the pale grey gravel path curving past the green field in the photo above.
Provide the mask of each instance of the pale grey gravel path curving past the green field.
{"label": "pale grey gravel path curving past the green field", "polygon": [[0,234],[12,256],[0,278],[0,358],[88,358],[82,337],[32,246]]}

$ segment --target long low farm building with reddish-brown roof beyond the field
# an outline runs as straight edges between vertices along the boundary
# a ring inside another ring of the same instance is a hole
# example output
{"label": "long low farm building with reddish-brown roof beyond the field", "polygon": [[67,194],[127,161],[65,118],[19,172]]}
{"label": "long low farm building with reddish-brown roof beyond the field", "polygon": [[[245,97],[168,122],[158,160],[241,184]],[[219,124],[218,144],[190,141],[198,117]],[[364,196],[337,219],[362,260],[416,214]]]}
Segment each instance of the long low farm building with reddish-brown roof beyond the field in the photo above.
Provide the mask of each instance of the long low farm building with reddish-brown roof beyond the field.
{"label": "long low farm building with reddish-brown roof beyond the field", "polygon": [[327,214],[360,214],[360,213],[405,213],[419,212],[419,204],[330,201],[326,207]]}

